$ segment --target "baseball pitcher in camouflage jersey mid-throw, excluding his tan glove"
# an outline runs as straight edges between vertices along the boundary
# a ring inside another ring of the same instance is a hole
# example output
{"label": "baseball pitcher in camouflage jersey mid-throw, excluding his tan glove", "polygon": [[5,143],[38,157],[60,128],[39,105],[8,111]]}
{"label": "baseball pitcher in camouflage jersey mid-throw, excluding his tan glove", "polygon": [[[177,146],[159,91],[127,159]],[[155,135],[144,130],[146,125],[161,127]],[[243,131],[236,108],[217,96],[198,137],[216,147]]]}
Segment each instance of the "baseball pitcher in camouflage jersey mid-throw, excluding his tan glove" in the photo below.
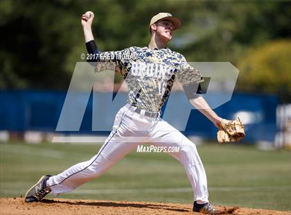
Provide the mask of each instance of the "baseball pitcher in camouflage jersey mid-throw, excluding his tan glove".
{"label": "baseball pitcher in camouflage jersey mid-throw, excluding his tan glove", "polygon": [[200,72],[188,65],[182,54],[166,48],[182,22],[168,12],[160,12],[150,20],[148,46],[100,52],[91,31],[94,14],[84,14],[81,19],[88,53],[94,55],[97,64],[114,63],[115,70],[125,78],[129,88],[127,103],[116,114],[112,132],[97,155],[58,175],[42,176],[27,191],[25,201],[40,201],[50,192],[55,196],[69,192],[97,178],[139,144],[138,140],[129,142],[128,139],[142,136],[155,146],[179,147],[178,153],[168,154],[175,157],[186,170],[193,188],[193,211],[218,214],[218,210],[209,203],[206,173],[195,144],[160,117],[161,107],[177,79],[182,83],[190,103],[214,126],[220,128],[224,120],[211,110],[201,96],[201,87],[198,85],[203,78]]}

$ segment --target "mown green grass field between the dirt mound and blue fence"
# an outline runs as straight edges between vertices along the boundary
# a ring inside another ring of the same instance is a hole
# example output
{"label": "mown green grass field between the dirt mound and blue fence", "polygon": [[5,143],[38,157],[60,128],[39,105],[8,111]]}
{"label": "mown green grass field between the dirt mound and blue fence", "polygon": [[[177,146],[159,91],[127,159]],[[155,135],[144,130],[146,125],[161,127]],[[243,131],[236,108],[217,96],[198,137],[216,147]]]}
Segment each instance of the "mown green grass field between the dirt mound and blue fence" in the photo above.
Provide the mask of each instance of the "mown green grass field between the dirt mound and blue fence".
{"label": "mown green grass field between the dirt mound and blue fence", "polygon": [[[100,145],[0,144],[0,196],[24,196],[41,175],[57,174],[89,160],[99,148]],[[204,144],[197,149],[206,169],[213,205],[291,210],[290,152],[263,152],[254,146],[230,144]],[[185,190],[161,190],[173,188]],[[172,157],[133,152],[96,180],[60,197],[191,204],[193,193],[183,166]]]}

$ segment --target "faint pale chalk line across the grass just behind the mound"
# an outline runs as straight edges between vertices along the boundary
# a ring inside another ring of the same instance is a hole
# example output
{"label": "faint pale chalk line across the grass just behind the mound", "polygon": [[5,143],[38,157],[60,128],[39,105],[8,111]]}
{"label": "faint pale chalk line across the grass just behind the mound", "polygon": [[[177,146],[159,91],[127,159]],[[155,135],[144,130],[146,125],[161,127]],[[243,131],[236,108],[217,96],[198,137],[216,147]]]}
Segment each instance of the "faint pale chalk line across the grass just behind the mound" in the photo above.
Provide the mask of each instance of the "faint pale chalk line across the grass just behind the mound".
{"label": "faint pale chalk line across the grass just behind the mound", "polygon": [[[4,185],[4,184],[3,184]],[[233,191],[291,191],[291,186],[272,187],[209,187],[211,192],[233,192]],[[66,195],[74,194],[134,194],[134,193],[188,193],[192,192],[190,187],[178,188],[153,188],[153,189],[76,189]],[[4,193],[19,194],[21,191],[15,189],[0,189],[1,196]]]}

